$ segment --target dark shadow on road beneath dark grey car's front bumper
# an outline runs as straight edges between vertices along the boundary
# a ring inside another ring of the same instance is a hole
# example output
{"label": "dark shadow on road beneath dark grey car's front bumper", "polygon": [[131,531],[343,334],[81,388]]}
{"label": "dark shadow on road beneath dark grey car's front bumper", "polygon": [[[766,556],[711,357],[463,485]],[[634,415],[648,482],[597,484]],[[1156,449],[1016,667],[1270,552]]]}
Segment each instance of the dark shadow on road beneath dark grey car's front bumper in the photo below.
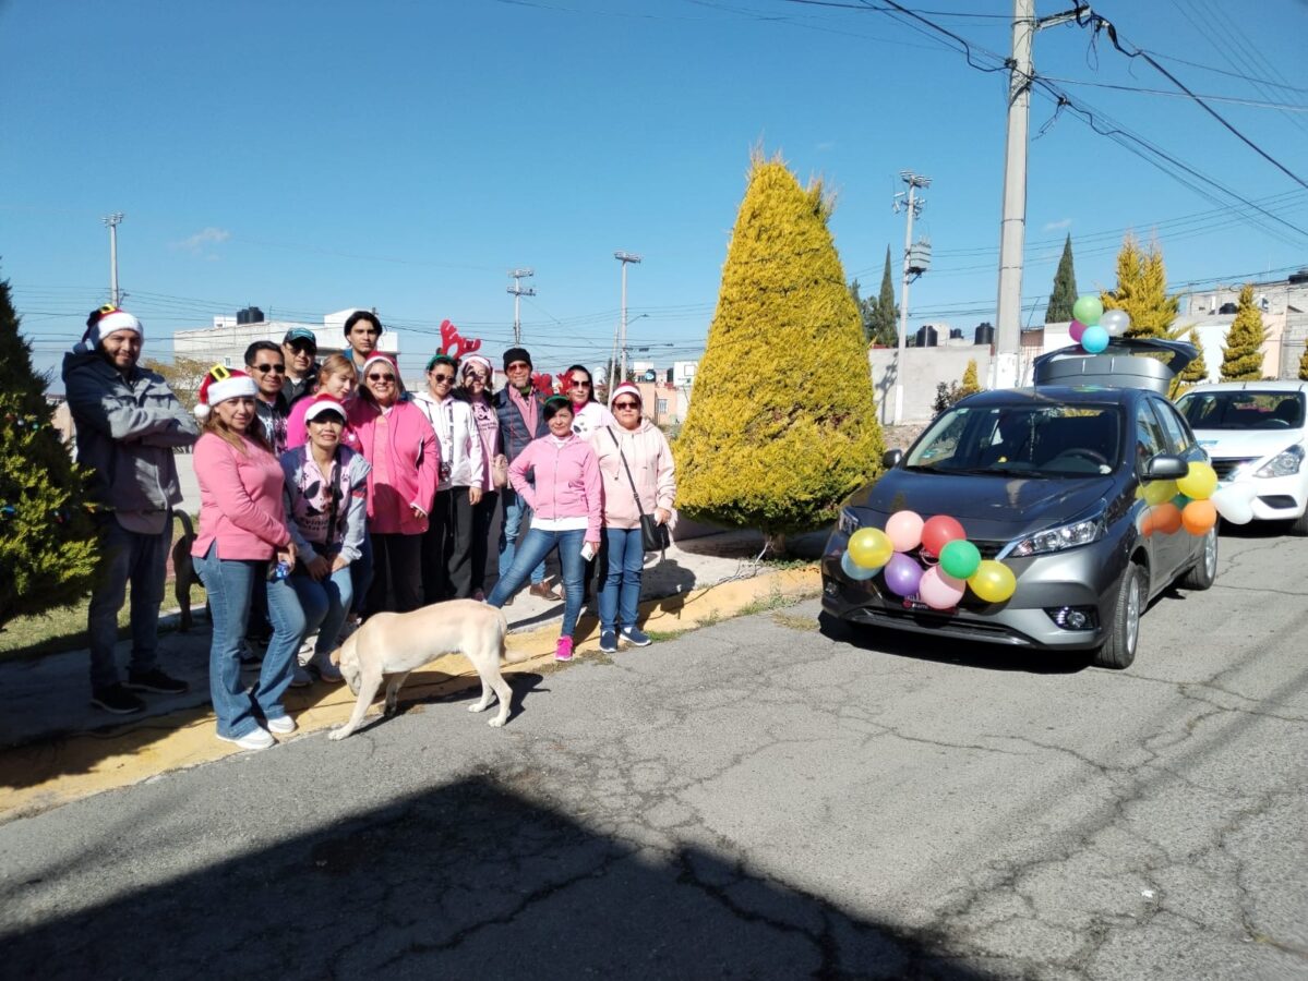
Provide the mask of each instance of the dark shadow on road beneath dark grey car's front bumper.
{"label": "dark shadow on road beneath dark grey car's front bumper", "polygon": [[1023,671],[1025,674],[1075,674],[1090,667],[1088,651],[1035,651],[1031,648],[981,644],[955,637],[933,637],[882,630],[867,624],[846,623],[828,613],[818,618],[823,636],[863,651],[918,661],[978,667],[986,671]]}

